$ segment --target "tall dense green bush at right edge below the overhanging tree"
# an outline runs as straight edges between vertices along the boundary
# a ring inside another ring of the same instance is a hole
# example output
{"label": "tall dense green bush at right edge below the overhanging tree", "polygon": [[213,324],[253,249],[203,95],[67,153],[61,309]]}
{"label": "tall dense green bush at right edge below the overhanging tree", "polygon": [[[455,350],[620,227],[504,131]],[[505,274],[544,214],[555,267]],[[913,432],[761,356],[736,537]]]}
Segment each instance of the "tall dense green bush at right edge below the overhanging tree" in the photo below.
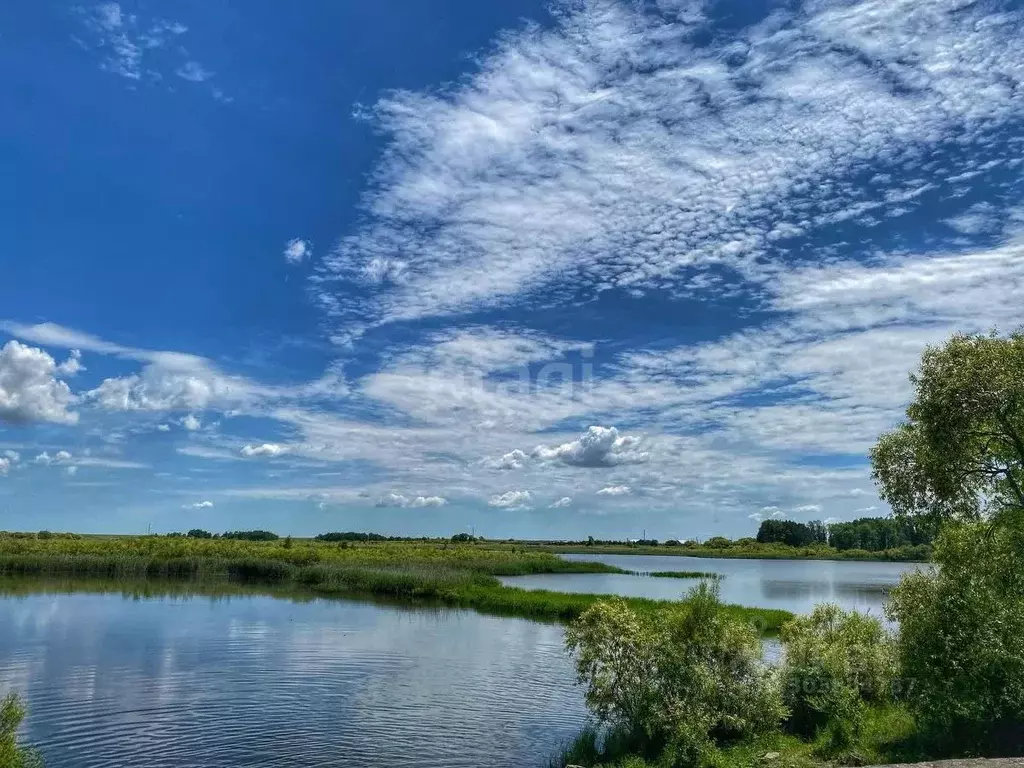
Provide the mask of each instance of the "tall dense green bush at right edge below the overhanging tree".
{"label": "tall dense green bush at right edge below the overhanging tree", "polygon": [[947,526],[938,572],[904,575],[890,615],[900,623],[905,698],[937,744],[1024,751],[1024,528]]}

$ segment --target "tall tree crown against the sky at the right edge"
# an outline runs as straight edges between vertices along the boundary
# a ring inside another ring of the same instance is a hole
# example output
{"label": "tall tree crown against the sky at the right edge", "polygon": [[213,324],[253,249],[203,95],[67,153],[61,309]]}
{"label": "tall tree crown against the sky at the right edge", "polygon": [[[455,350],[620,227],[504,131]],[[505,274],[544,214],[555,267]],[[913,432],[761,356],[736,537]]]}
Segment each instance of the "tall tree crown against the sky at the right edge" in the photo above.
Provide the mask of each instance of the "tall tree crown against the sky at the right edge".
{"label": "tall tree crown against the sky at the right edge", "polygon": [[871,451],[897,516],[933,527],[1024,511],[1024,332],[925,350],[906,421]]}

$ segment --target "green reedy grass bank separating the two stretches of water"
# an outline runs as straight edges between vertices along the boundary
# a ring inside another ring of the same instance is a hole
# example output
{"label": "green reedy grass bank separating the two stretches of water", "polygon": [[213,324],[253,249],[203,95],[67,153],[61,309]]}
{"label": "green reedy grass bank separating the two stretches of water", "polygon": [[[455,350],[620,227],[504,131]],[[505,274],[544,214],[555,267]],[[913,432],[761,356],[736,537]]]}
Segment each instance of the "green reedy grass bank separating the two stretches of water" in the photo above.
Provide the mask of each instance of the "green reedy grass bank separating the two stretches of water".
{"label": "green reedy grass bank separating the two stretches of water", "polygon": [[[600,595],[506,587],[501,575],[627,572],[601,563],[568,562],[536,548],[486,543],[251,542],[169,537],[15,538],[0,535],[0,577],[274,587],[292,594],[449,605],[502,615],[570,621]],[[8,586],[8,589],[10,587]],[[132,587],[132,589],[137,589]],[[606,597],[606,596],[604,596]],[[630,598],[638,610],[668,601]],[[764,634],[786,611],[730,606]]]}

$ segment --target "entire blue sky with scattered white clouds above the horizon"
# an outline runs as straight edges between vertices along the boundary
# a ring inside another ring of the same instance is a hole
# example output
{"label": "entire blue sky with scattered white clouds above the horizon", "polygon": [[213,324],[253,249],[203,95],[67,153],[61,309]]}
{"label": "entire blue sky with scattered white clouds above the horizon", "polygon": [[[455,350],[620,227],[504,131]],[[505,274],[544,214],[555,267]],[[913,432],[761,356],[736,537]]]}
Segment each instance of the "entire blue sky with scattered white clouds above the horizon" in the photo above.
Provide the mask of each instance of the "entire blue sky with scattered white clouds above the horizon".
{"label": "entire blue sky with scattered white clouds above the horizon", "polygon": [[1020,324],[1024,9],[0,8],[0,528],[884,514]]}

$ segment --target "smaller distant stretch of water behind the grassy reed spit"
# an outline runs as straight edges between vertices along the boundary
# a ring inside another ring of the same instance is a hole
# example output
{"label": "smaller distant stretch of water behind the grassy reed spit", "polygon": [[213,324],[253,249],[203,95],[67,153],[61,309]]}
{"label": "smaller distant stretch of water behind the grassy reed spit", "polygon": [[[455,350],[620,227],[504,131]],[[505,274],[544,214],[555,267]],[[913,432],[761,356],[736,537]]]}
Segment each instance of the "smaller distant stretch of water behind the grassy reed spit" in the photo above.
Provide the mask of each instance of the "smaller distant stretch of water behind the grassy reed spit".
{"label": "smaller distant stretch of water behind the grassy reed spit", "polygon": [[[674,555],[563,555],[569,560],[598,560],[638,571],[700,570],[721,573],[725,602],[762,608],[809,612],[820,602],[836,602],[879,617],[889,588],[916,563],[854,560],[738,560]],[[697,582],[622,573],[543,573],[503,579],[526,589],[594,592],[626,597],[675,599]]]}

